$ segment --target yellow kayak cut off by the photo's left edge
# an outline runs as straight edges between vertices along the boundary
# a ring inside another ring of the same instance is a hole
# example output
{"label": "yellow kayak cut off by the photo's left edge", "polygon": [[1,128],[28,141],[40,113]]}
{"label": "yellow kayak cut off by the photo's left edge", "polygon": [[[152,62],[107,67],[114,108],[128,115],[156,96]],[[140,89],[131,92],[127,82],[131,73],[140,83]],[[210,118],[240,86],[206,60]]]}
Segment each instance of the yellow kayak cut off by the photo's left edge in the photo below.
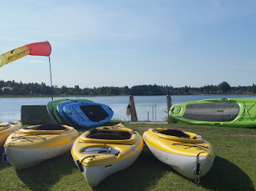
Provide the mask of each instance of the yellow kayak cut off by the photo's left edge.
{"label": "yellow kayak cut off by the photo's left edge", "polygon": [[2,148],[5,144],[5,140],[8,136],[18,129],[22,128],[21,121],[15,121],[11,123],[0,123],[0,148]]}

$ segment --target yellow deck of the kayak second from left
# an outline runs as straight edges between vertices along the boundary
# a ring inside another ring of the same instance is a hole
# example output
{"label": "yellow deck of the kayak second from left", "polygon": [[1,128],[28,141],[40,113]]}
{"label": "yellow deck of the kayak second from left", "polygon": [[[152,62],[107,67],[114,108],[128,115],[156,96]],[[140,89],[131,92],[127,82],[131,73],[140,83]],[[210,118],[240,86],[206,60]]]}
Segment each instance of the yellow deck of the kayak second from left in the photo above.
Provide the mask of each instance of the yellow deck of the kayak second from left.
{"label": "yellow deck of the kayak second from left", "polygon": [[25,149],[38,149],[57,147],[68,144],[78,137],[78,132],[73,127],[63,125],[65,130],[36,130],[40,125],[21,128],[10,134],[5,141],[5,147],[17,147]]}

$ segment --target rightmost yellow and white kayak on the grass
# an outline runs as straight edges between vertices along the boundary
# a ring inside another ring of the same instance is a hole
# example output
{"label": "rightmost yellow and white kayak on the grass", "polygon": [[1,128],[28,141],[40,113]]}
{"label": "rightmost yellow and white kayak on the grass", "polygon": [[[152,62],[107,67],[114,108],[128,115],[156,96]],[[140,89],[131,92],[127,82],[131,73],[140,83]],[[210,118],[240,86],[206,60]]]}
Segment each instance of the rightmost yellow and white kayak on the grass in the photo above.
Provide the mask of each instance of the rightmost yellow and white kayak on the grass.
{"label": "rightmost yellow and white kayak on the grass", "polygon": [[143,140],[158,160],[198,183],[215,159],[212,145],[192,132],[149,128],[143,133]]}

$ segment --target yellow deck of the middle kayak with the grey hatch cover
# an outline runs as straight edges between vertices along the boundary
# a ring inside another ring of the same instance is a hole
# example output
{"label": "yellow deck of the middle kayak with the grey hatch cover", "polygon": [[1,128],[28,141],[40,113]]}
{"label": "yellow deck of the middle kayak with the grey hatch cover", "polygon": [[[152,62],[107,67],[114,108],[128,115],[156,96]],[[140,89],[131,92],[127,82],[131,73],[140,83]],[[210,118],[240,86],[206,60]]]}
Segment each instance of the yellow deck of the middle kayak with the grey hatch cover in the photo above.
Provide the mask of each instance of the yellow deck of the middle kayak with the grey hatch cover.
{"label": "yellow deck of the middle kayak with the grey hatch cover", "polygon": [[[126,128],[124,125],[107,126],[97,128],[97,131],[117,131],[117,132],[131,132],[130,128]],[[81,134],[76,141],[74,141],[71,149],[71,154],[74,160],[82,161],[84,166],[97,167],[107,163],[114,163],[119,160],[126,159],[136,154],[135,151],[141,151],[143,149],[143,139],[134,131],[130,139],[126,140],[107,140],[89,138],[90,131]],[[111,147],[120,151],[120,154],[82,154],[81,151],[85,147]]]}

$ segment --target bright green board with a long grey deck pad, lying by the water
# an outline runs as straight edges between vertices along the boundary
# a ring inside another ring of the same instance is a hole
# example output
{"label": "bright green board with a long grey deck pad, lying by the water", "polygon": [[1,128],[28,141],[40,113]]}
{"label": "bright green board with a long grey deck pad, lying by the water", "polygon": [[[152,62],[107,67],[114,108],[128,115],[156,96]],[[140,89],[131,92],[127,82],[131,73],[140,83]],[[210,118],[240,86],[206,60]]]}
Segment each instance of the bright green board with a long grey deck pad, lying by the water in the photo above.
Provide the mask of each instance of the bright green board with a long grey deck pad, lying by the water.
{"label": "bright green board with a long grey deck pad, lying by the water", "polygon": [[256,99],[204,99],[172,105],[169,116],[191,124],[256,127]]}

